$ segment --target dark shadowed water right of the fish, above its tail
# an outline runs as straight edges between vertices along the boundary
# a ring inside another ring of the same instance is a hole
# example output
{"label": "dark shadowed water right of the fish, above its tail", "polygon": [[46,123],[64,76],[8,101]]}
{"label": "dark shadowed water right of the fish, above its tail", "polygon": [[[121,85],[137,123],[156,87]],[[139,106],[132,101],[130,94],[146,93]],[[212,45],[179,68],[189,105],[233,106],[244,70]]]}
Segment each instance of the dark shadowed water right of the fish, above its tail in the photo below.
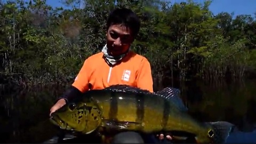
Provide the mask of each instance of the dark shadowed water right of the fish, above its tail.
{"label": "dark shadowed water right of the fish, above its tail", "polygon": [[256,82],[220,83],[217,86],[197,82],[183,91],[191,115],[199,121],[228,121],[240,131],[252,132],[256,123]]}

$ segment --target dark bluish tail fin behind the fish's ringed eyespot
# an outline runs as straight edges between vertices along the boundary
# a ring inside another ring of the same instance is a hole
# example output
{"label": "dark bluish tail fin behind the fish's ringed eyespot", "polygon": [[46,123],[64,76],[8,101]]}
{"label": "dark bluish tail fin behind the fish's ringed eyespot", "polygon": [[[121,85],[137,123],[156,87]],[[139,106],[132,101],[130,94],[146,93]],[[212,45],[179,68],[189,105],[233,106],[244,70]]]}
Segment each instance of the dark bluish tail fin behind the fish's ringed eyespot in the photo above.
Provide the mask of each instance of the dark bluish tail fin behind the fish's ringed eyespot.
{"label": "dark bluish tail fin behind the fish's ringed eyespot", "polygon": [[214,130],[213,142],[214,143],[226,143],[227,138],[231,132],[234,132],[235,125],[225,121],[208,122],[212,125]]}

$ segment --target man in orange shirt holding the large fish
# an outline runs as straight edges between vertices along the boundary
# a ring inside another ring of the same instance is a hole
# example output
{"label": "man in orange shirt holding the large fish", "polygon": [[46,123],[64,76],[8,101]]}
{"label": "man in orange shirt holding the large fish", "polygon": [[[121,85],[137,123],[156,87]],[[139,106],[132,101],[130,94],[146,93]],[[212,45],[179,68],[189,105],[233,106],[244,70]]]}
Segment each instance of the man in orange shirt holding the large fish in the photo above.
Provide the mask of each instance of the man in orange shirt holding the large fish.
{"label": "man in orange shirt holding the large fish", "polygon": [[[81,93],[104,89],[114,84],[131,85],[153,92],[149,61],[142,55],[130,51],[139,30],[140,20],[134,12],[129,9],[112,11],[107,20],[107,42],[102,52],[84,61],[71,88],[58,99],[51,108],[50,115]],[[124,138],[121,134],[116,139],[119,142],[125,141]],[[137,142],[141,141],[137,139]]]}

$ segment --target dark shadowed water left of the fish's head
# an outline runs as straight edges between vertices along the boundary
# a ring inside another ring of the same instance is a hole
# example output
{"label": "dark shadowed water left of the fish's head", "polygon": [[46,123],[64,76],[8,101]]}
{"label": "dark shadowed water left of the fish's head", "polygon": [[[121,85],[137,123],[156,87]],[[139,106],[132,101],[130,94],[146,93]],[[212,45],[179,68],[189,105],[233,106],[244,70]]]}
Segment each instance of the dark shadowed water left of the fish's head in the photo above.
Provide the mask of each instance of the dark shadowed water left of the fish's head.
{"label": "dark shadowed water left of the fish's head", "polygon": [[58,129],[48,116],[58,94],[50,89],[2,91],[1,142],[41,142],[51,138]]}

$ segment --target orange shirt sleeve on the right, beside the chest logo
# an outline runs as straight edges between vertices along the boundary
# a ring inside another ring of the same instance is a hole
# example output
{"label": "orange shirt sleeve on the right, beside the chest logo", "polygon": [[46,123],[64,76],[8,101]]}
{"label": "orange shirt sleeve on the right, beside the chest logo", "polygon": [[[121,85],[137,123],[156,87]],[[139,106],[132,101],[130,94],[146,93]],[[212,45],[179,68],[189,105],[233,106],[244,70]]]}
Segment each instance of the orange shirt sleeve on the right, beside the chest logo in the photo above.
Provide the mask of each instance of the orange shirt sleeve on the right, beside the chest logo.
{"label": "orange shirt sleeve on the right, beside the chest logo", "polygon": [[143,58],[136,77],[137,87],[142,90],[153,92],[153,78],[151,74],[150,63]]}

